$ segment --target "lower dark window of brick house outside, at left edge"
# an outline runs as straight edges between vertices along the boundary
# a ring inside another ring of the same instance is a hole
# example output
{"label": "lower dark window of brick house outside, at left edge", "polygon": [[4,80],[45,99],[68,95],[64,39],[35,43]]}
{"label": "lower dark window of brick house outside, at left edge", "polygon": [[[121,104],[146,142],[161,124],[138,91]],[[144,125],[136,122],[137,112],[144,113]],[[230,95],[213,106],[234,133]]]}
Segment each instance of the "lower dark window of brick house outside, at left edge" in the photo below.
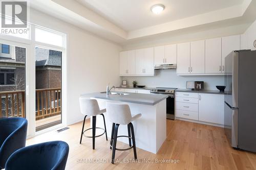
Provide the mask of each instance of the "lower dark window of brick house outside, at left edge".
{"label": "lower dark window of brick house outside, at left edge", "polygon": [[0,85],[14,85],[15,69],[0,69]]}

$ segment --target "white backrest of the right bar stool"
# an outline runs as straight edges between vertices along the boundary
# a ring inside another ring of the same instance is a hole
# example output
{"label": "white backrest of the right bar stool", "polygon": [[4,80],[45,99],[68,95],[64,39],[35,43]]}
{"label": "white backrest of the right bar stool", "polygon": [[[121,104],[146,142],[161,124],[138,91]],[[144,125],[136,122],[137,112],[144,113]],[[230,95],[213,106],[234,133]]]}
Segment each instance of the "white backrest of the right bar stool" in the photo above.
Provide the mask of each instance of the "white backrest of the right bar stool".
{"label": "white backrest of the right bar stool", "polygon": [[112,123],[127,125],[132,114],[129,105],[106,102],[106,114]]}

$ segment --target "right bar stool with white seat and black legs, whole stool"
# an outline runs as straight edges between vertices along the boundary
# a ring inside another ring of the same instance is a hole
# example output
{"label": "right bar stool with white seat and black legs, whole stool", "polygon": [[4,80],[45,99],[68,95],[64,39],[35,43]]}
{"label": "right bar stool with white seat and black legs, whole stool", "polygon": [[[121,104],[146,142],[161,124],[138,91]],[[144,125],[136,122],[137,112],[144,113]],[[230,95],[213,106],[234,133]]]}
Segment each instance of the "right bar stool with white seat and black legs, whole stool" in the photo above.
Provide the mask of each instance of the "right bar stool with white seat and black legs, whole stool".
{"label": "right bar stool with white seat and black legs, whole stool", "polygon": [[[112,160],[114,163],[115,160],[115,152],[117,151],[127,151],[133,148],[134,158],[137,159],[136,153],[136,144],[135,144],[135,136],[134,136],[134,128],[133,128],[133,120],[139,118],[141,114],[136,114],[132,116],[129,105],[125,104],[114,104],[114,103],[106,103],[107,115],[112,124],[112,132],[111,132],[111,141],[110,141],[110,149],[112,150]],[[119,125],[127,125],[128,136],[117,136]],[[132,136],[131,136],[132,133]],[[126,149],[118,149],[116,148],[116,142],[118,137],[127,137],[129,138],[130,148]],[[133,145],[131,143],[131,139],[133,140]]]}

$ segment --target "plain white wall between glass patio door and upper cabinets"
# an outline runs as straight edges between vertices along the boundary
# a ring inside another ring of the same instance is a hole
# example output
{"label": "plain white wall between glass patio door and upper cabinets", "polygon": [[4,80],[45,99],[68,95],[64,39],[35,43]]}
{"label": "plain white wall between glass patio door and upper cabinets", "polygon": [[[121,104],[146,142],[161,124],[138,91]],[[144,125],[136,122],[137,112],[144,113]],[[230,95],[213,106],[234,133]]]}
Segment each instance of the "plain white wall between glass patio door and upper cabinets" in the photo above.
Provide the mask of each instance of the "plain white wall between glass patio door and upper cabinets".
{"label": "plain white wall between glass patio door and upper cabinets", "polygon": [[31,22],[67,34],[67,125],[83,119],[79,95],[104,91],[108,83],[119,85],[121,46],[38,11]]}

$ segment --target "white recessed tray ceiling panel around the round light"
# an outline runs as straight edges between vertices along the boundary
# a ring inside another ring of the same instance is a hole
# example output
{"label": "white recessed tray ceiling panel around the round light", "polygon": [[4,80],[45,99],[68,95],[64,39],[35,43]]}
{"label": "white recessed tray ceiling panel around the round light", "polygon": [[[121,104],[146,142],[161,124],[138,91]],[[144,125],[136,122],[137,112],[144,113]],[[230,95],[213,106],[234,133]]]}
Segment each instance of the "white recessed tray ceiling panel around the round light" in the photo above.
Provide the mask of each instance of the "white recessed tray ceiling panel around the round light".
{"label": "white recessed tray ceiling panel around the round light", "polygon": [[[243,0],[76,0],[125,31],[133,31],[211,11],[241,5]],[[163,4],[156,15],[150,8]]]}

